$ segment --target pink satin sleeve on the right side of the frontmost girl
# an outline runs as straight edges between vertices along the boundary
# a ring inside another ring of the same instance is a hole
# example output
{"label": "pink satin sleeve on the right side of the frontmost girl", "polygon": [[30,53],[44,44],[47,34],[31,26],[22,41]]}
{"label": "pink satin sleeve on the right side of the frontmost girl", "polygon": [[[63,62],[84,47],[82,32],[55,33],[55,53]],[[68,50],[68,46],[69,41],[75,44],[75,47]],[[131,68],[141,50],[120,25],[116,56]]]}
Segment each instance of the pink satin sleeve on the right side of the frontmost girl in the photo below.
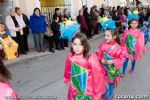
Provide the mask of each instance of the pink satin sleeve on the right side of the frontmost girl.
{"label": "pink satin sleeve on the right side of the frontmost girl", "polygon": [[89,57],[89,66],[92,70],[92,80],[94,95],[93,100],[100,100],[101,95],[105,92],[104,77],[99,60],[96,55],[91,54]]}

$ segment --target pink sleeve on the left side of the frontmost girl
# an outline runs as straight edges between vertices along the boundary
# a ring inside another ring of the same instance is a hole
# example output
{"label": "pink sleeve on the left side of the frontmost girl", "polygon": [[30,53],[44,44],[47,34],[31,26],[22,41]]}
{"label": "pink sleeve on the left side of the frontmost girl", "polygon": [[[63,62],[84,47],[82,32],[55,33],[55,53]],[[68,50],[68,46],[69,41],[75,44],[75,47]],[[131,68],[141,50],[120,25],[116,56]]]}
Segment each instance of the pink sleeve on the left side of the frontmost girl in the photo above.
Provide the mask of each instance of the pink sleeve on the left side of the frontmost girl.
{"label": "pink sleeve on the left side of the frontmost girl", "polygon": [[66,63],[65,63],[65,71],[64,71],[64,82],[67,83],[70,81],[70,74],[71,74],[71,61],[70,61],[70,55],[68,54],[66,58]]}

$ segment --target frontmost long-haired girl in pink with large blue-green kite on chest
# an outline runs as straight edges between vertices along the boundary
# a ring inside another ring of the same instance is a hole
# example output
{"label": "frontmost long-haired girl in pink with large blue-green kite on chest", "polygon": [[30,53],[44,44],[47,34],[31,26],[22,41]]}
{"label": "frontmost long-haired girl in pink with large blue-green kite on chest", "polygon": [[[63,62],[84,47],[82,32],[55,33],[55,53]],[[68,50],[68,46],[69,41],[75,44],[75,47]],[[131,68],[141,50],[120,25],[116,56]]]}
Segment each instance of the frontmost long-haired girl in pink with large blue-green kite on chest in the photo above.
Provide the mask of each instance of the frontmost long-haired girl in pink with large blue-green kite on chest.
{"label": "frontmost long-haired girl in pink with large blue-green kite on chest", "polygon": [[101,100],[106,90],[99,60],[89,50],[84,34],[72,39],[64,71],[64,82],[69,84],[68,100]]}

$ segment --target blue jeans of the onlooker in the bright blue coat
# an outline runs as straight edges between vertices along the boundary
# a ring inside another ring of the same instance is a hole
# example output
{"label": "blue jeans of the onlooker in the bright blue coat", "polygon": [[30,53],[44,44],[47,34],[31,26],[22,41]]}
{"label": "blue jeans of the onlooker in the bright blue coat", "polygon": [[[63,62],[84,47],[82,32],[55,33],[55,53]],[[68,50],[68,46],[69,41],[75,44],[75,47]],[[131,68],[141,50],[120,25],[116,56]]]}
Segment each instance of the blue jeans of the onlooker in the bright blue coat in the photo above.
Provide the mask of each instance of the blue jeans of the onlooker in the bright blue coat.
{"label": "blue jeans of the onlooker in the bright blue coat", "polygon": [[35,33],[33,34],[33,38],[37,51],[44,51],[44,44],[43,44],[44,33]]}

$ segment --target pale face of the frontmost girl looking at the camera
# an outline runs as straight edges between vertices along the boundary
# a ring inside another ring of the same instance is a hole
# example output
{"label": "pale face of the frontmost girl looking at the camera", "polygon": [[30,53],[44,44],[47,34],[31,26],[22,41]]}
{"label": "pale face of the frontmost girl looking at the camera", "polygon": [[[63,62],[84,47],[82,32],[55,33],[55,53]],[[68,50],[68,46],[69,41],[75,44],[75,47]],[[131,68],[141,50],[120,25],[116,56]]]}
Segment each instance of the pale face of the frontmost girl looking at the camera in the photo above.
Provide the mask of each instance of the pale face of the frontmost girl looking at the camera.
{"label": "pale face of the frontmost girl looking at the camera", "polygon": [[74,39],[73,43],[72,43],[72,48],[73,51],[75,52],[75,54],[80,54],[83,52],[83,45],[81,44],[80,39],[76,38]]}

